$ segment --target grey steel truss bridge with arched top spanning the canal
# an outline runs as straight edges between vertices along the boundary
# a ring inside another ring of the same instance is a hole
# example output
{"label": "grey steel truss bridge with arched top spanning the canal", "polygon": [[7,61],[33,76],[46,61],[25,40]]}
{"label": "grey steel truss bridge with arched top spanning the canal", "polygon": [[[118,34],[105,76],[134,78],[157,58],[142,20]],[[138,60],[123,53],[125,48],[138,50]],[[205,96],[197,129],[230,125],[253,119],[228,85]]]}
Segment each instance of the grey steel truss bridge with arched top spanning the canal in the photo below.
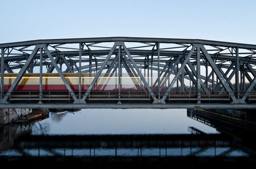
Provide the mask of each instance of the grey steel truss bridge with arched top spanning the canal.
{"label": "grey steel truss bridge with arched top spanning the canal", "polygon": [[[256,45],[109,37],[21,41],[0,48],[0,108],[256,108]],[[17,91],[28,73],[38,73],[38,91]],[[44,91],[44,73],[58,73],[67,90]],[[78,89],[67,73],[77,75]],[[86,90],[84,73],[91,76]],[[5,90],[4,78],[12,74],[15,80]],[[123,75],[135,90],[124,90]],[[111,78],[115,89],[106,90]]]}

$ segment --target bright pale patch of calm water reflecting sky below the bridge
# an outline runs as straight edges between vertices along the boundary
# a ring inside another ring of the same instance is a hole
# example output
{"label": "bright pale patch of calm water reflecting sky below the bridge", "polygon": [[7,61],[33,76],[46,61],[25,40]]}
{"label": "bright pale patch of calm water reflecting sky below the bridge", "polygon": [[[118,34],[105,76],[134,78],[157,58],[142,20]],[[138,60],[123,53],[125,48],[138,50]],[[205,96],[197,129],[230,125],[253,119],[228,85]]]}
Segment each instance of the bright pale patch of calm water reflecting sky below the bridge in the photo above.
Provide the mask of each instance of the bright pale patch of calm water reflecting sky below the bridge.
{"label": "bright pale patch of calm water reflecting sky below the bridge", "polygon": [[186,109],[83,109],[72,114],[49,114],[33,125],[33,135],[173,134],[191,133],[189,127],[218,133],[215,128],[187,117]]}

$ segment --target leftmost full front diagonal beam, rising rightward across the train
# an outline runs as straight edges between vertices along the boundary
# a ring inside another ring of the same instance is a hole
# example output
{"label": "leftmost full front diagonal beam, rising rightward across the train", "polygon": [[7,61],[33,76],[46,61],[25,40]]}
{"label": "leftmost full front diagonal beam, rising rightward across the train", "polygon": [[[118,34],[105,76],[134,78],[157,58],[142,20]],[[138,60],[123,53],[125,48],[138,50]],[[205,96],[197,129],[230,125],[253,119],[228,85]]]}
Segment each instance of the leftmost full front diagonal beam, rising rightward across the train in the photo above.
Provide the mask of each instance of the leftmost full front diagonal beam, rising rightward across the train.
{"label": "leftmost full front diagonal beam, rising rightward across the train", "polygon": [[7,99],[10,97],[11,92],[15,89],[15,87],[17,87],[17,85],[20,82],[20,79],[23,77],[24,73],[26,73],[26,70],[28,69],[31,62],[33,62],[33,59],[34,59],[36,53],[38,52],[38,49],[39,49],[39,47],[36,45],[33,52],[29,55],[26,63],[24,64],[24,66],[20,70],[19,74],[17,75],[17,77],[13,81],[13,84],[9,88],[8,92],[4,95],[4,98],[1,100],[1,103],[6,103]]}

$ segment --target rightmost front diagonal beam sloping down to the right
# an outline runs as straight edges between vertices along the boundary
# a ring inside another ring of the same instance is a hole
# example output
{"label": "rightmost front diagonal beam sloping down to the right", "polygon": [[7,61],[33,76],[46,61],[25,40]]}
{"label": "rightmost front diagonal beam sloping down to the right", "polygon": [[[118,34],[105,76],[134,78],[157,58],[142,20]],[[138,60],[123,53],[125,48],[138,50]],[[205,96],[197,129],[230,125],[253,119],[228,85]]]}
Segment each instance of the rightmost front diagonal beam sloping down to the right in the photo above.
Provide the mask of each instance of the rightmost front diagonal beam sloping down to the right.
{"label": "rightmost front diagonal beam sloping down to the right", "polygon": [[205,55],[207,61],[209,62],[209,64],[212,67],[212,70],[216,73],[216,76],[220,79],[221,84],[223,85],[223,87],[225,87],[226,91],[228,92],[228,94],[230,95],[230,98],[233,100],[233,103],[238,103],[236,96],[234,95],[234,91],[232,91],[230,89],[230,87],[228,86],[225,78],[221,75],[220,70],[218,70],[216,64],[214,64],[214,61],[212,61],[211,56],[208,54],[207,50],[205,50],[204,45],[200,45],[200,48],[203,52],[203,54]]}

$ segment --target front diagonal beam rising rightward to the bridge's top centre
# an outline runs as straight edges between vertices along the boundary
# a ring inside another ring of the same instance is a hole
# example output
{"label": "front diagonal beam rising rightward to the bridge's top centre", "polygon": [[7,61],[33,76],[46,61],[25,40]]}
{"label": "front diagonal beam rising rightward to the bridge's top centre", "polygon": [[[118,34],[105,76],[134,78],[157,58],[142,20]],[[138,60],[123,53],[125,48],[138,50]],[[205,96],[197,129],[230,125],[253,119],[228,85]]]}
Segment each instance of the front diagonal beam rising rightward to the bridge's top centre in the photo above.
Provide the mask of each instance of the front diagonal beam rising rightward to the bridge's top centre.
{"label": "front diagonal beam rising rightward to the bridge's top centre", "polygon": [[90,86],[88,87],[87,91],[85,92],[83,98],[81,99],[81,101],[85,101],[85,99],[87,98],[88,94],[90,93],[90,91],[92,90],[93,85],[95,84],[95,82],[98,80],[100,74],[102,73],[102,70],[104,70],[109,58],[111,57],[111,55],[113,54],[115,48],[117,46],[117,43],[115,42],[115,44],[113,45],[113,47],[111,48],[108,56],[106,57],[105,61],[103,62],[102,66],[100,67],[99,71],[97,72],[97,75],[95,76],[95,78],[93,78],[92,83],[90,84]]}

